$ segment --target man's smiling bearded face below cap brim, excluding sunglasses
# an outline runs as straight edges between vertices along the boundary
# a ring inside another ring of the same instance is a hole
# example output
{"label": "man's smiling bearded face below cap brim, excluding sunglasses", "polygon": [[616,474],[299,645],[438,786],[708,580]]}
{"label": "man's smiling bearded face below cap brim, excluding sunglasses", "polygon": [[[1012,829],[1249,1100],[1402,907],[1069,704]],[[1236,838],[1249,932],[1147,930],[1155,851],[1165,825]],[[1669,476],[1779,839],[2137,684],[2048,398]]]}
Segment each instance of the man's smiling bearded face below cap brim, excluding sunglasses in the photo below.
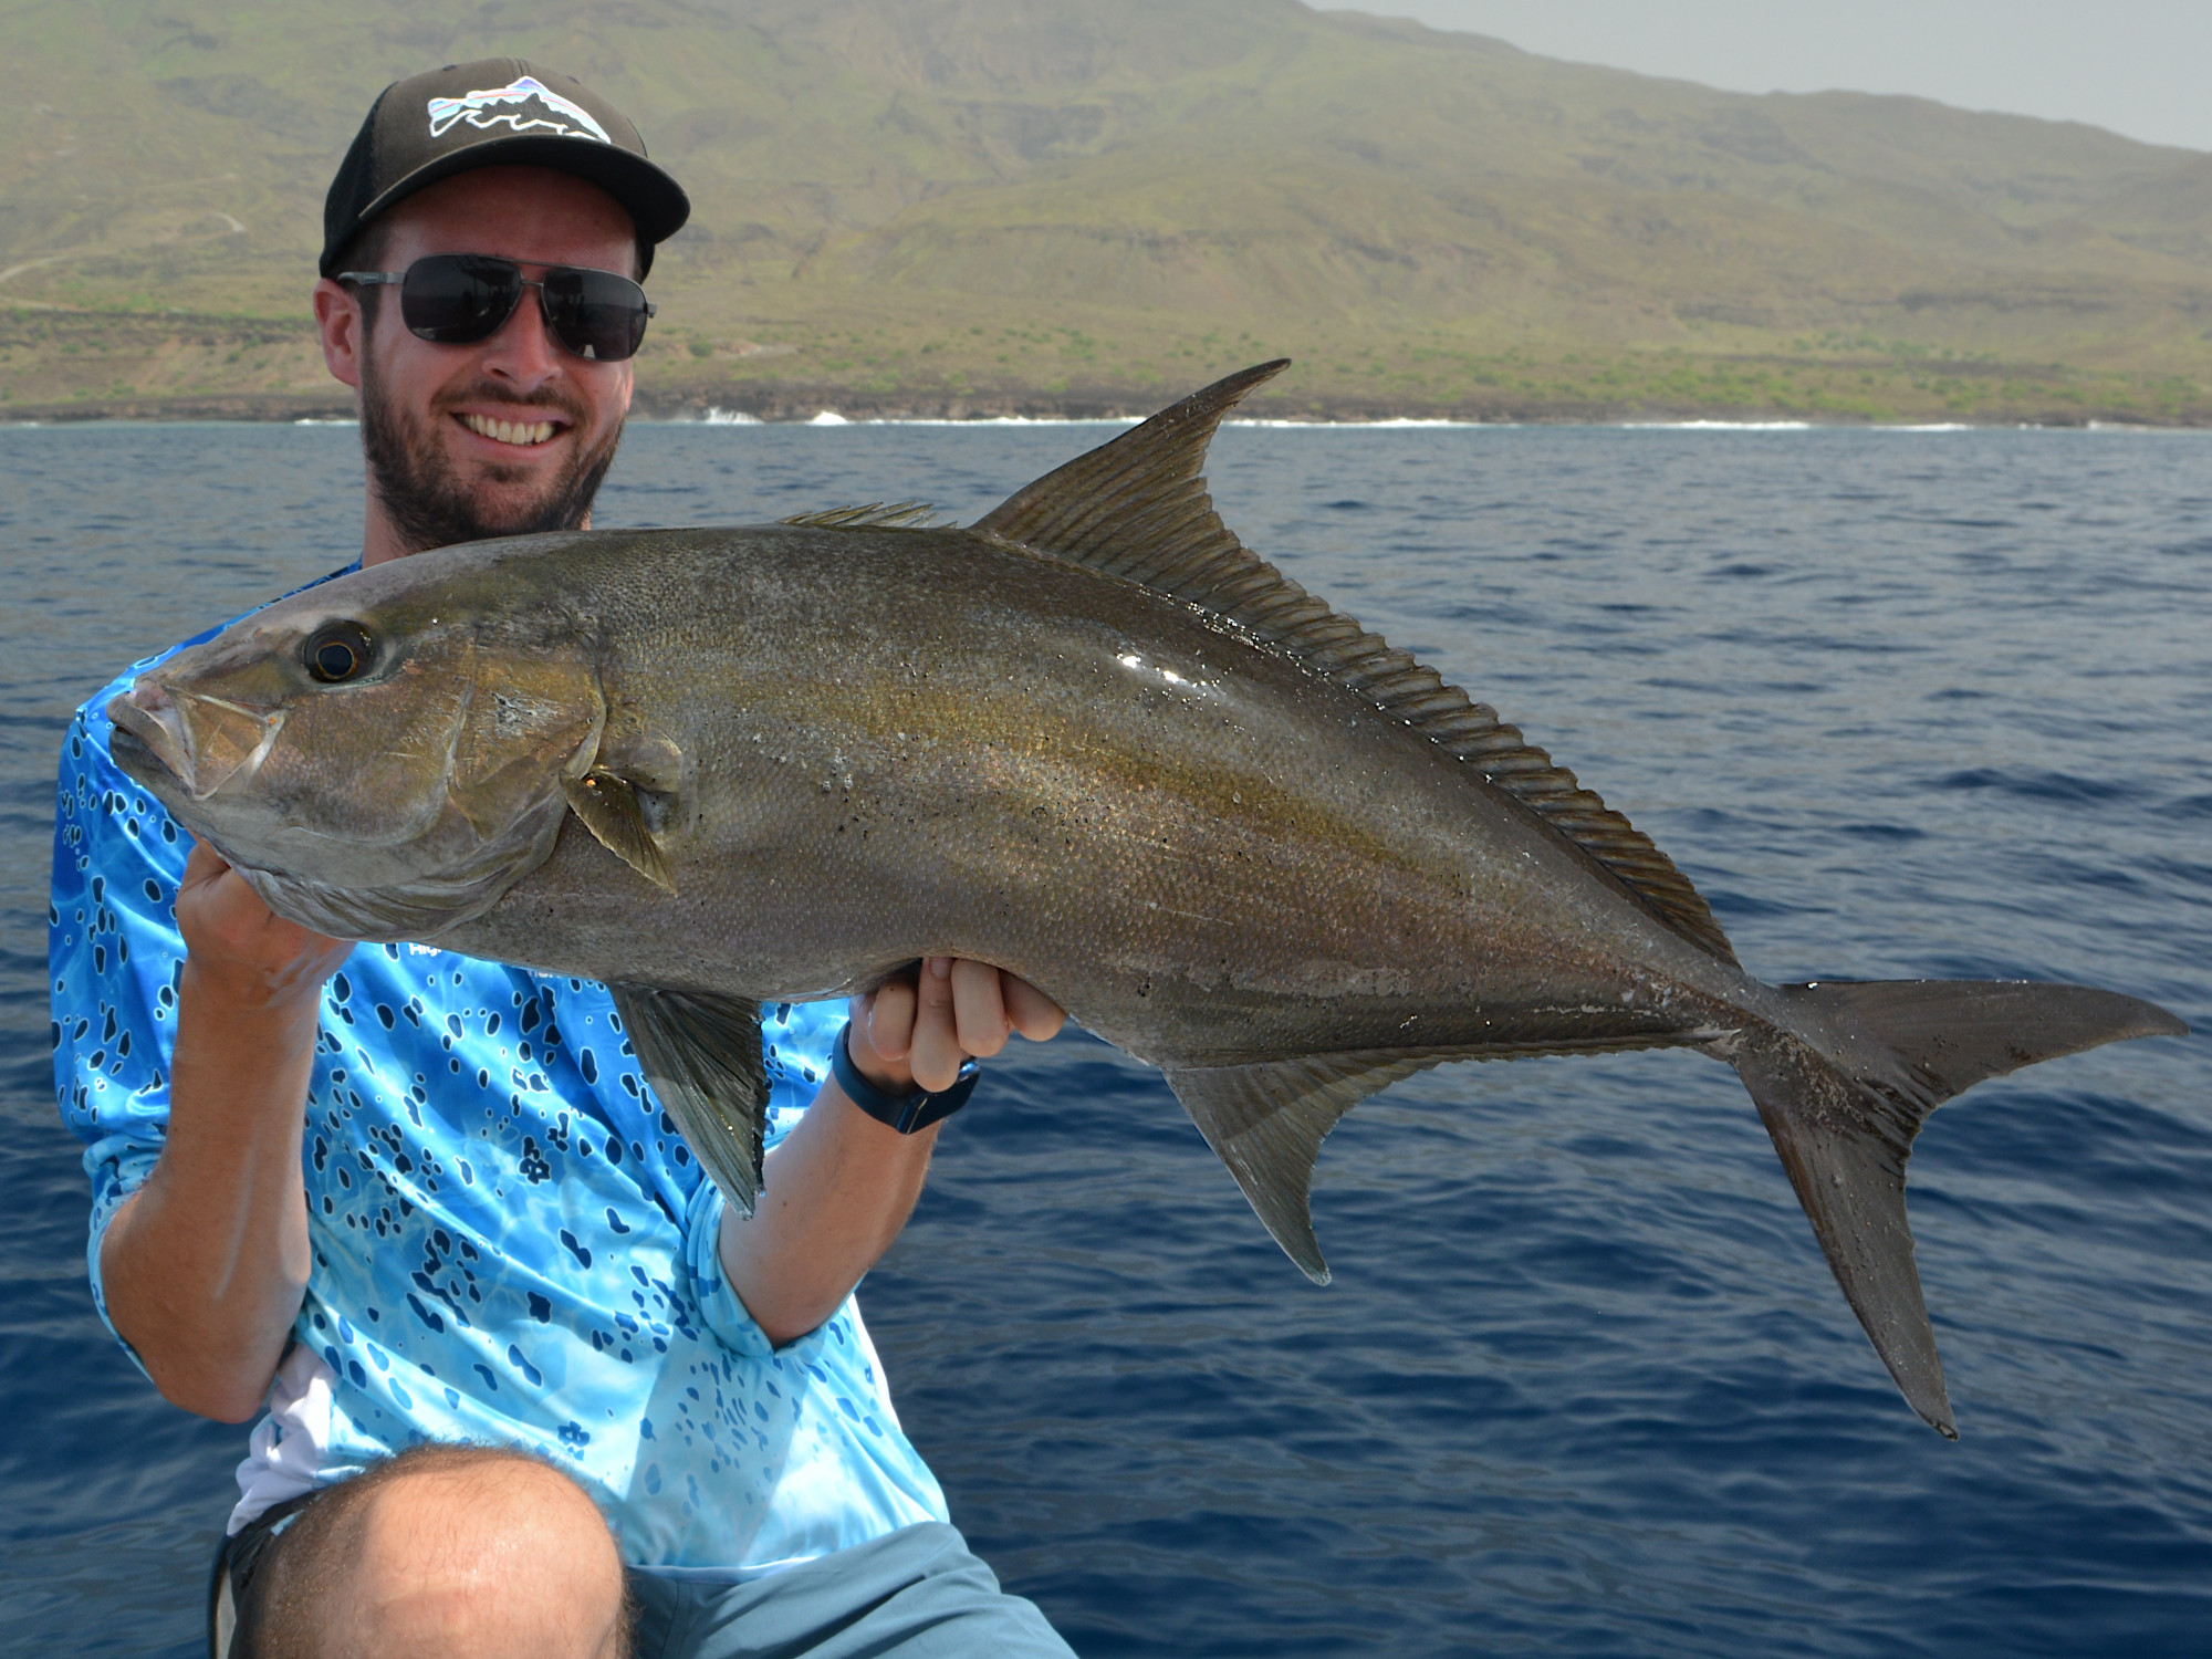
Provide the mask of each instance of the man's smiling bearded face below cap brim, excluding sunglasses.
{"label": "man's smiling bearded face below cap brim, excluding sunglasses", "polygon": [[[549,168],[462,173],[396,206],[380,228],[380,270],[425,254],[498,254],[526,279],[544,265],[637,270],[630,217],[597,186]],[[358,385],[369,489],[392,551],[584,526],[630,407],[630,363],[568,352],[546,330],[535,288],[473,345],[416,338],[387,288]]]}

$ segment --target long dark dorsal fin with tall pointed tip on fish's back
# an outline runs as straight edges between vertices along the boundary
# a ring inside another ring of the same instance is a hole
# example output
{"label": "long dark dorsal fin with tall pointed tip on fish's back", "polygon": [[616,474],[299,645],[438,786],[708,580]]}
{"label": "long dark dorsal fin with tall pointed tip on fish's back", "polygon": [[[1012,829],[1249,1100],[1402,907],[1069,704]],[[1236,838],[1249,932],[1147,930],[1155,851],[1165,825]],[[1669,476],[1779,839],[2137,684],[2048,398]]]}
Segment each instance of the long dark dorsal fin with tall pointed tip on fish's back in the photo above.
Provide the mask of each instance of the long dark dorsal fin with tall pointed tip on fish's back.
{"label": "long dark dorsal fin with tall pointed tip on fish's back", "polygon": [[1725,962],[1736,953],[1674,860],[1575,774],[1433,668],[1332,611],[1221,522],[1206,447],[1221,418],[1287,358],[1161,409],[1009,495],[978,531],[1217,611],[1400,721],[1544,818],[1608,869],[1659,922]]}

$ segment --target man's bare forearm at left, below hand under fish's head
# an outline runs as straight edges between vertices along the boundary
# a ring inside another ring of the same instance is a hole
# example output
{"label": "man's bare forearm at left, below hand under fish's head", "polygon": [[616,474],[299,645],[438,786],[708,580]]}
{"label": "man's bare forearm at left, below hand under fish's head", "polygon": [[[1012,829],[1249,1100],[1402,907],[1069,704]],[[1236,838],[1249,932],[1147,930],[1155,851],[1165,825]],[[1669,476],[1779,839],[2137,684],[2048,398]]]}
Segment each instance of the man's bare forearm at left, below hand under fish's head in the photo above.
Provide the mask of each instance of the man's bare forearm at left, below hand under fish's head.
{"label": "man's bare forearm at left, below hand under fish's head", "polygon": [[186,962],[170,1124],[100,1252],[108,1316],[164,1398],[241,1422],[307,1285],[301,1133],[319,998],[223,995]]}

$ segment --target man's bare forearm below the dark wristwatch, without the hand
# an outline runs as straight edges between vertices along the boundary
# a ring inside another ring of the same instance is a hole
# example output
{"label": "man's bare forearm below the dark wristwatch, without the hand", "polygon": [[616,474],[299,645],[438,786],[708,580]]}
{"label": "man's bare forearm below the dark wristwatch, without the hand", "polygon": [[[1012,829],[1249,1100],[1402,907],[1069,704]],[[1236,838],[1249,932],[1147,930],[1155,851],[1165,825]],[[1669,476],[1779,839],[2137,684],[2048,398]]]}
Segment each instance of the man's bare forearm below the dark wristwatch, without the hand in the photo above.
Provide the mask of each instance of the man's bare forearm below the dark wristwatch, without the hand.
{"label": "man's bare forearm below the dark wristwatch, without the hand", "polygon": [[936,1126],[900,1135],[825,1079],[768,1155],[752,1219],[723,1210],[721,1270],[768,1340],[821,1325],[907,1225],[929,1175]]}

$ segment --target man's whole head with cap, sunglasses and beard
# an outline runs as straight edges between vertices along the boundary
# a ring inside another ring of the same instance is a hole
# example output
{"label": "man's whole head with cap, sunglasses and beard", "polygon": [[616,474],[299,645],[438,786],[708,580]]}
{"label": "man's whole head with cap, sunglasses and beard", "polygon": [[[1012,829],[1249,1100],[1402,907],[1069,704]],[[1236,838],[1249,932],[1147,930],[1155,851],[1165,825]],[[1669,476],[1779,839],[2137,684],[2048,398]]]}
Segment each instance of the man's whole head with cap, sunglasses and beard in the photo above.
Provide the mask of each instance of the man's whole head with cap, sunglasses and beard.
{"label": "man's whole head with cap, sunglasses and beard", "polygon": [[688,212],[566,75],[493,58],[385,88],[330,186],[314,288],[323,358],[361,405],[367,564],[588,524],[639,281]]}

